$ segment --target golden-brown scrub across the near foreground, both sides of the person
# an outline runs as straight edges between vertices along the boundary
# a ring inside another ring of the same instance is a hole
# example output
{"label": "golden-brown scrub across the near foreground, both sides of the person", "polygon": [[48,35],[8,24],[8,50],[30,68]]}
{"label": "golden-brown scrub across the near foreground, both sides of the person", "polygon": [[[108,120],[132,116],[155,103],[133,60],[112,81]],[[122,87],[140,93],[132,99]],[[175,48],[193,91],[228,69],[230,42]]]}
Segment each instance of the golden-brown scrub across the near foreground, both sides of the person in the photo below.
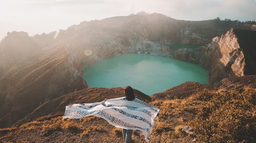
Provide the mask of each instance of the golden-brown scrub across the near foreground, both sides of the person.
{"label": "golden-brown scrub across the near foreground, both sides of the person", "polygon": [[[151,104],[160,108],[151,142],[255,141],[255,89],[205,89],[185,99],[156,99]],[[122,141],[121,129],[96,117],[33,121],[19,127],[0,129],[0,140],[16,142],[19,135],[35,134],[49,140],[55,140],[57,135],[62,140],[73,137],[75,142]],[[140,131],[133,133],[133,140],[145,142]]]}

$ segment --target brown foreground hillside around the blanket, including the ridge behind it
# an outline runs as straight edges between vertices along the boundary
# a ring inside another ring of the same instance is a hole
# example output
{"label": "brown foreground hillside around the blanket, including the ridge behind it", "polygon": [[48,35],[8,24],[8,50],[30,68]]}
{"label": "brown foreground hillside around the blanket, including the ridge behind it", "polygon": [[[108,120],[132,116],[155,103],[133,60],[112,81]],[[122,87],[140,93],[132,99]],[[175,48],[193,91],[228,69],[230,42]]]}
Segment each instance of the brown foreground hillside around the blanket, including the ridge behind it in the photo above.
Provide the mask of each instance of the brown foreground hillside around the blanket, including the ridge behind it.
{"label": "brown foreground hillside around the blanket, including the ridge behind it", "polygon": [[[160,108],[160,115],[150,136],[150,142],[254,142],[255,80],[255,75],[226,78],[211,89],[201,85],[201,90],[199,90],[200,84],[187,82],[181,87],[187,84],[188,87],[194,85],[195,88],[188,88],[185,97],[177,96],[177,99],[170,99],[156,98],[156,96],[150,103]],[[178,89],[175,90],[178,93]],[[180,88],[181,93],[183,90],[184,88]],[[168,90],[162,94],[167,95],[167,92]],[[44,105],[41,106],[42,110],[51,111],[53,114],[19,126],[0,129],[0,140],[2,142],[122,142],[121,130],[103,119],[87,117],[80,120],[62,120],[61,117],[63,115],[61,111],[70,103],[101,101],[104,98],[112,98],[114,94],[122,96],[123,90],[89,88],[61,96],[51,101],[52,104],[54,103],[53,106],[46,103],[49,109],[43,107]],[[146,97],[139,92],[136,92],[136,95]],[[42,110],[37,109],[37,111]],[[35,111],[34,115],[38,113]],[[133,133],[133,140],[145,142],[139,131]]]}

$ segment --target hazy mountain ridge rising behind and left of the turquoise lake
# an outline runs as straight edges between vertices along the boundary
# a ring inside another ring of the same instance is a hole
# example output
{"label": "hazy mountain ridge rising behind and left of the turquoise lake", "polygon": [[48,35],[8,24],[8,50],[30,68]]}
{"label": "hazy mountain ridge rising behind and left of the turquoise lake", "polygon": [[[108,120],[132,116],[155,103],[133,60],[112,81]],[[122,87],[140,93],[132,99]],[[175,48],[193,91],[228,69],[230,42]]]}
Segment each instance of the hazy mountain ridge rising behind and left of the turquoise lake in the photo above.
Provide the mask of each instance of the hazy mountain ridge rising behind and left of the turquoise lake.
{"label": "hazy mountain ridge rising behind and left of the turquoise lake", "polygon": [[142,12],[33,37],[9,33],[0,43],[0,127],[13,125],[47,101],[87,88],[82,73],[96,61],[137,52],[170,57],[175,50],[169,44],[204,45],[230,28],[255,31],[250,24]]}

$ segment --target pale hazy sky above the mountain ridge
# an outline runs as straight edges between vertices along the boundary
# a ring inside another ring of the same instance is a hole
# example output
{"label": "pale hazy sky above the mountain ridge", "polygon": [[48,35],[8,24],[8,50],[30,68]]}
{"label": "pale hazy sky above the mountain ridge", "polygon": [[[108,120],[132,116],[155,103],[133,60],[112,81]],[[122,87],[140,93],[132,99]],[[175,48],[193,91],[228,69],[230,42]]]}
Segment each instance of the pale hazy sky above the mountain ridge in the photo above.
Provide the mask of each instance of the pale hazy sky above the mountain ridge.
{"label": "pale hazy sky above the mountain ridge", "polygon": [[140,11],[184,20],[246,21],[256,20],[256,0],[0,0],[0,40],[11,31],[32,36]]}

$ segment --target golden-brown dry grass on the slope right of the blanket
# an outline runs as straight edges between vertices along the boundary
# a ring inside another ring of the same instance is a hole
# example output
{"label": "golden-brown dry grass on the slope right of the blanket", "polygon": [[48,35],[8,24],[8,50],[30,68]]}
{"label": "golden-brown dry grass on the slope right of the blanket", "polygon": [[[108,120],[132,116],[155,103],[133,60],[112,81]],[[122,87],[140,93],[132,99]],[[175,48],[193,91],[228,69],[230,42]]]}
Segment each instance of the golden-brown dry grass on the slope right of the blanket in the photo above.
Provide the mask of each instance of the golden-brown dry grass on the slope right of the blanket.
{"label": "golden-brown dry grass on the slope right of the blanket", "polygon": [[[156,100],[160,119],[153,132],[184,137],[190,126],[202,142],[253,142],[256,131],[256,90],[203,90],[184,100]],[[169,130],[168,130],[169,129]]]}

